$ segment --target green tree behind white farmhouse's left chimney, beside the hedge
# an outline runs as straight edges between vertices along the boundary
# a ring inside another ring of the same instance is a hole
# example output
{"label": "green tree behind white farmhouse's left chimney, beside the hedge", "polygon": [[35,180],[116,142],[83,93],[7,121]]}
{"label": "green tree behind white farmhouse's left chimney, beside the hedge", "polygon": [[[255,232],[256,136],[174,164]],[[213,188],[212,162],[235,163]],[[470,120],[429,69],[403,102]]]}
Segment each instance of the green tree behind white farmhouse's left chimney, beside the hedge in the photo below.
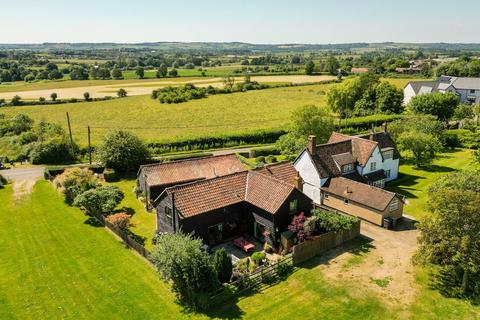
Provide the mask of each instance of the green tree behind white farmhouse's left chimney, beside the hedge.
{"label": "green tree behind white farmhouse's left chimney, beside the hedge", "polygon": [[333,130],[333,118],[328,110],[315,105],[303,106],[292,114],[289,132],[280,137],[276,146],[282,154],[296,154],[305,148],[309,135],[324,143]]}

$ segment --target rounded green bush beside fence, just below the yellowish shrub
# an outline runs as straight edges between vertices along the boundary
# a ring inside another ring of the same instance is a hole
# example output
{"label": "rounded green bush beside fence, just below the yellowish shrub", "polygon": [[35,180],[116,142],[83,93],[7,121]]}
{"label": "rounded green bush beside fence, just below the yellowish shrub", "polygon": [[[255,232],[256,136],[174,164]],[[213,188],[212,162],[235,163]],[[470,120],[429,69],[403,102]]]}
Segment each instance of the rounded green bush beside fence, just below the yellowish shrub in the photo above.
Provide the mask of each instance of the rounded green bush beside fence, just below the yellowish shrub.
{"label": "rounded green bush beside fence, just below the yellowish shrub", "polygon": [[124,197],[117,186],[98,187],[75,197],[73,205],[82,208],[87,214],[109,215]]}

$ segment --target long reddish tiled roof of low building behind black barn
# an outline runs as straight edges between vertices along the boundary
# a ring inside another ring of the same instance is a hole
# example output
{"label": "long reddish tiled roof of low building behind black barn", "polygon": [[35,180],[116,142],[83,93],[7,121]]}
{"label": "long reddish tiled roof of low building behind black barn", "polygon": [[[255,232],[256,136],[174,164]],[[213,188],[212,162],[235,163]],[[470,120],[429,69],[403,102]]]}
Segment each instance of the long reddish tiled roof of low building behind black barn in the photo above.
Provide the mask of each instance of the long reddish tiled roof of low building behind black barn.
{"label": "long reddish tiled roof of low building behind black barn", "polygon": [[146,175],[149,186],[174,185],[245,170],[245,166],[233,154],[152,164],[140,168],[140,172]]}

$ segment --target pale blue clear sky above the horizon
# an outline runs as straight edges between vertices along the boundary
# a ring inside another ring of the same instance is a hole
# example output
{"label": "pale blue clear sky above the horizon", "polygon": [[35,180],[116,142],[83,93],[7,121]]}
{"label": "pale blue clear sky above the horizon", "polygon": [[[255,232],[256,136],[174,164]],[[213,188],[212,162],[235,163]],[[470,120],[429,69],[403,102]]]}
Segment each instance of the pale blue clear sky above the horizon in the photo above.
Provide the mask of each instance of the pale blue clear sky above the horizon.
{"label": "pale blue clear sky above the horizon", "polygon": [[0,43],[480,43],[478,0],[0,0]]}

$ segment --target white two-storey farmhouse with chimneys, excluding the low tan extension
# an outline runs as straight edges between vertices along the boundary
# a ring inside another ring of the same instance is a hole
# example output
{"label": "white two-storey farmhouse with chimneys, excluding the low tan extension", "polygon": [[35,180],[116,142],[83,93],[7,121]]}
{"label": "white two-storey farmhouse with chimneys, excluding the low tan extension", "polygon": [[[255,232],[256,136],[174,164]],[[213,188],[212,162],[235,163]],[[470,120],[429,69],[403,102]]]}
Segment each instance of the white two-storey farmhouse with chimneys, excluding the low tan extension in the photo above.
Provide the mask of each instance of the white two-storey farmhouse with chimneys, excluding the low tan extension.
{"label": "white two-storey farmhouse with chimneys, excluding the low tan extension", "polygon": [[[322,187],[330,179],[345,177],[373,187],[398,177],[400,154],[386,124],[381,132],[348,136],[332,133],[328,143],[317,145],[314,136],[294,161],[303,179],[303,192],[315,203],[322,203]],[[367,195],[368,196],[368,195]]]}

